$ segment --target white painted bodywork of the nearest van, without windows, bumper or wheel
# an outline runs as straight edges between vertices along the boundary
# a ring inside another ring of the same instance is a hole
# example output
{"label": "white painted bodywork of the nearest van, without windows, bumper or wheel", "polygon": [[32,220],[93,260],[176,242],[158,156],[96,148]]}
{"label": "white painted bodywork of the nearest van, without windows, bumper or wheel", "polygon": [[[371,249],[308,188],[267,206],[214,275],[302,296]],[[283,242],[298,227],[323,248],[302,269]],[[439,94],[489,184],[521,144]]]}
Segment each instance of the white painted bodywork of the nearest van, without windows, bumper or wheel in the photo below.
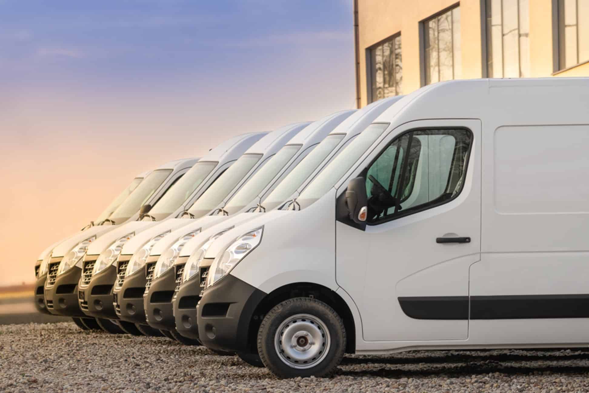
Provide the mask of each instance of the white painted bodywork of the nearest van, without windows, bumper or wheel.
{"label": "white painted bodywork of the nearest van, without windows, bumper or wheel", "polygon": [[[266,293],[296,282],[332,288],[352,310],[360,354],[585,346],[587,308],[568,309],[567,301],[589,298],[587,108],[589,78],[426,86],[376,119],[389,126],[335,189],[301,211],[265,214],[284,215],[264,223],[258,247],[229,274]],[[334,222],[349,180],[400,132],[422,127],[472,132],[456,198],[365,231]],[[254,221],[230,232],[239,236]],[[443,244],[438,237],[471,240]],[[465,299],[468,313],[409,317],[400,297]],[[551,313],[564,316],[543,316]]]}

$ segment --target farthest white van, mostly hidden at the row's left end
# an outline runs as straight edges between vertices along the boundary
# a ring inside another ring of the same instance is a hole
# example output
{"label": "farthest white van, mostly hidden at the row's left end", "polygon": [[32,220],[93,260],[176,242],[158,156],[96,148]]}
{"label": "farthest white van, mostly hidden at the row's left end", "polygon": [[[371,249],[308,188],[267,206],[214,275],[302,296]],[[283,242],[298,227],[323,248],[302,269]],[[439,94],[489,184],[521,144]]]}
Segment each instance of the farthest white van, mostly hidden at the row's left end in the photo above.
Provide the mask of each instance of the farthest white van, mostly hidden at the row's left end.
{"label": "farthest white van, mostly hidden at the row's left end", "polygon": [[[84,231],[85,229],[94,227],[95,225],[105,224],[105,222],[110,217],[112,212],[114,212],[115,209],[118,208],[125,199],[127,199],[127,196],[129,196],[131,192],[133,192],[134,189],[137,188],[137,186],[141,183],[141,181],[143,181],[145,176],[147,176],[148,174],[150,174],[150,172],[144,172],[143,174],[135,176],[131,183],[115,199],[113,199],[110,205],[108,205],[108,207],[104,209],[104,211],[102,211],[98,218],[95,221],[90,221],[90,224],[88,224],[81,230]],[[35,284],[35,307],[37,308],[37,311],[41,312],[42,314],[49,314],[47,308],[45,308],[44,301],[44,287],[45,279],[47,279],[47,266],[49,264],[49,255],[51,255],[51,251],[53,251],[53,249],[57,247],[59,243],[61,243],[61,241],[55,242],[54,244],[46,248],[43,252],[41,252],[41,255],[39,255],[37,263],[35,263],[35,278],[37,279],[37,282]],[[76,324],[81,323],[80,321],[75,322]]]}

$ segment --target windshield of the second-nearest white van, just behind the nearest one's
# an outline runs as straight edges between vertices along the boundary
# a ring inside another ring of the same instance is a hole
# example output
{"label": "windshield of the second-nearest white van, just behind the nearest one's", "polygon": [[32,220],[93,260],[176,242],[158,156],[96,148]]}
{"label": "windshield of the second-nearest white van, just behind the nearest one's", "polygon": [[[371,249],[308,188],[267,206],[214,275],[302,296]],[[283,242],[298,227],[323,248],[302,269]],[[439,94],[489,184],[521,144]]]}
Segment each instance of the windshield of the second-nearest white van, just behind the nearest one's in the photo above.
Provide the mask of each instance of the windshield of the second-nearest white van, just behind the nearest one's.
{"label": "windshield of the second-nearest white van, just behind the nearest one's", "polygon": [[317,169],[317,166],[333,151],[335,146],[343,139],[345,134],[327,135],[323,141],[313,149],[282,181],[274,188],[270,195],[261,203],[264,209],[270,210],[282,202],[305,182],[307,178]]}

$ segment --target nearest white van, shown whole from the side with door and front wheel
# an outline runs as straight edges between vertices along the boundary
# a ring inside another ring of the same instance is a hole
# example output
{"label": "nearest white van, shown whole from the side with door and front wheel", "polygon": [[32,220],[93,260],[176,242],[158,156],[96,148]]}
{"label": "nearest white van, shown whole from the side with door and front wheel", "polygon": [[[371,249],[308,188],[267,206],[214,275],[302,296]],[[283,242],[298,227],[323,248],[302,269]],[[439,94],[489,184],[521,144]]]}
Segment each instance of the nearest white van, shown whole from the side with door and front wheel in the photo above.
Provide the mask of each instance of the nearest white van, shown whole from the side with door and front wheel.
{"label": "nearest white van, shown whole from the side with door and front wheel", "polygon": [[344,352],[589,344],[589,78],[429,85],[287,211],[227,232],[204,345],[279,377]]}

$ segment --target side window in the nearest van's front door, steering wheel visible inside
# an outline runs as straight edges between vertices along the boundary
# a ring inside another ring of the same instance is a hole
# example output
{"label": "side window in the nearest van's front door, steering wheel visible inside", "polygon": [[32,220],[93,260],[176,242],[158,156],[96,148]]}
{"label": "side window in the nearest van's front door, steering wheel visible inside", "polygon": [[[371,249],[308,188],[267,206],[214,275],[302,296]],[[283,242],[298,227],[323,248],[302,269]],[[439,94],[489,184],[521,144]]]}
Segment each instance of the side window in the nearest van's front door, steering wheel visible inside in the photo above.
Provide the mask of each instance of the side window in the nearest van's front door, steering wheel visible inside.
{"label": "side window in the nearest van's front door, steering wheel visible inside", "polygon": [[364,172],[368,222],[454,199],[462,190],[471,142],[466,129],[420,129],[393,140]]}

